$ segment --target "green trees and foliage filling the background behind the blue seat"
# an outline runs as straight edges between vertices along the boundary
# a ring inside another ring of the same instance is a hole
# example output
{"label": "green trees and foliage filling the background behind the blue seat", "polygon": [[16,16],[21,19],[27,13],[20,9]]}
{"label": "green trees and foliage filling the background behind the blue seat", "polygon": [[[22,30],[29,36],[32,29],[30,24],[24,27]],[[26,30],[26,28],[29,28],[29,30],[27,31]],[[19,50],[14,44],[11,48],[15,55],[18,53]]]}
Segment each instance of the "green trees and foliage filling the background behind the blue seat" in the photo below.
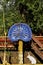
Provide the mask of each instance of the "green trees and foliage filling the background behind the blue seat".
{"label": "green trees and foliage filling the background behind the blue seat", "polygon": [[33,34],[43,35],[43,0],[0,0],[0,6],[0,35],[21,22],[28,24]]}

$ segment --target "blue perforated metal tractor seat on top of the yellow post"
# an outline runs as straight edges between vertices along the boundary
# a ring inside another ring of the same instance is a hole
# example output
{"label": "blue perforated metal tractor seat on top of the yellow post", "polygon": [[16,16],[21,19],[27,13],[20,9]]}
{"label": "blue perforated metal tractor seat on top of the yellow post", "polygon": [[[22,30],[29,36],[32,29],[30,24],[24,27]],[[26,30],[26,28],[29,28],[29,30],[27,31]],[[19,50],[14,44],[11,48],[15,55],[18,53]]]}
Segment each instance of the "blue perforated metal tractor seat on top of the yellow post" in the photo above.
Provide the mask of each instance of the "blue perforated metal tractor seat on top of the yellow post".
{"label": "blue perforated metal tractor seat on top of the yellow post", "polygon": [[11,41],[22,40],[22,41],[28,42],[32,38],[31,28],[25,23],[14,24],[9,29],[8,38]]}

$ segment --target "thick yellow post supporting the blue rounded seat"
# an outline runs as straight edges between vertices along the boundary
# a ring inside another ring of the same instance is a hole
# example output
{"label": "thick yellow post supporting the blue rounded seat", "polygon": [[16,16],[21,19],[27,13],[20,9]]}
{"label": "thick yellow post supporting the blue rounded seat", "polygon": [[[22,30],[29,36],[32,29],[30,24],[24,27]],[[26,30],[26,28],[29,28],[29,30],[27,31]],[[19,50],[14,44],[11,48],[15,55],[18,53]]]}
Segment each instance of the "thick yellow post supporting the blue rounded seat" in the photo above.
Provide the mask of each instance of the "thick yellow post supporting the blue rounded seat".
{"label": "thick yellow post supporting the blue rounded seat", "polygon": [[18,46],[18,60],[19,64],[23,64],[23,41],[19,41]]}

